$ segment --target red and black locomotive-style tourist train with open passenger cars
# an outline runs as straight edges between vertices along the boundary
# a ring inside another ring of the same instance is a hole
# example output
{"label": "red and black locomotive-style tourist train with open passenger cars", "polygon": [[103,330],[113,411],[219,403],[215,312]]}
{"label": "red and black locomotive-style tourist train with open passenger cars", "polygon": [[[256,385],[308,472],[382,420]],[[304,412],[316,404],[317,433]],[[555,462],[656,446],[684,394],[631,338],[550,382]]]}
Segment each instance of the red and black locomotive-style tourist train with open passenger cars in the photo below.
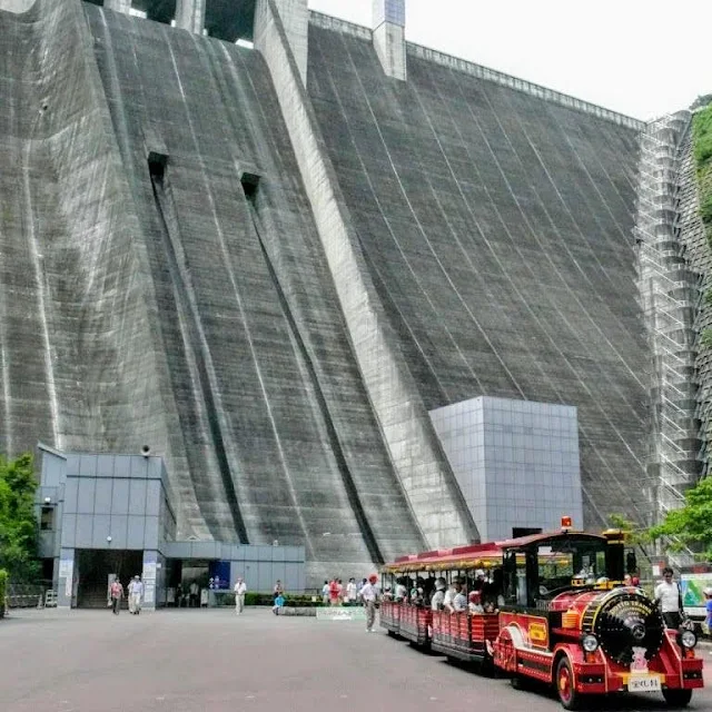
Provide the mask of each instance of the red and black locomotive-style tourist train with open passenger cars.
{"label": "red and black locomotive-style tourist train with open passenger cars", "polygon": [[[660,692],[669,705],[686,705],[703,686],[694,632],[666,629],[656,603],[625,585],[620,531],[573,532],[568,517],[562,524],[556,533],[386,564],[380,625],[507,674],[514,686],[526,679],[550,683],[566,710],[589,695],[625,691]],[[433,610],[431,593],[443,582],[478,591],[473,612]]]}

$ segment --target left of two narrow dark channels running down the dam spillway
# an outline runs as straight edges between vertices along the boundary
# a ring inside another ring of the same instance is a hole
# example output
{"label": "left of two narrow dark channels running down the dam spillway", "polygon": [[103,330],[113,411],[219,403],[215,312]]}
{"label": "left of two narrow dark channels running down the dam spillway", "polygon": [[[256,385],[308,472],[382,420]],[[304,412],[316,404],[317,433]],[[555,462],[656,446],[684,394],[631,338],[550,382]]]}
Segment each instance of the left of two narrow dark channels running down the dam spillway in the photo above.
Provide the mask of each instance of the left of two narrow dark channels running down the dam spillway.
{"label": "left of two narrow dark channels running down the dam spillway", "polygon": [[185,323],[188,330],[187,342],[190,350],[192,352],[198,370],[199,387],[202,393],[202,400],[208,415],[210,438],[215,448],[220,476],[222,477],[225,496],[227,497],[227,504],[230,507],[235,531],[237,532],[240,543],[249,544],[247,528],[237,502],[235,483],[233,482],[230,464],[225,448],[225,439],[222,437],[220,417],[215,402],[215,393],[212,392],[212,385],[210,384],[210,376],[208,374],[208,365],[206,363],[207,346],[200,328],[198,309],[195,300],[191,299],[190,291],[188,289],[189,278],[185,271],[185,265],[181,267],[181,263],[178,259],[178,254],[182,250],[180,247],[176,206],[174,204],[170,185],[166,180],[168,156],[162,152],[149,151],[147,158],[148,170],[151,177],[151,186],[154,188],[154,199],[156,200],[156,209],[160,217],[161,239],[164,241],[164,248],[168,260],[171,284],[176,289],[176,306],[186,317]]}

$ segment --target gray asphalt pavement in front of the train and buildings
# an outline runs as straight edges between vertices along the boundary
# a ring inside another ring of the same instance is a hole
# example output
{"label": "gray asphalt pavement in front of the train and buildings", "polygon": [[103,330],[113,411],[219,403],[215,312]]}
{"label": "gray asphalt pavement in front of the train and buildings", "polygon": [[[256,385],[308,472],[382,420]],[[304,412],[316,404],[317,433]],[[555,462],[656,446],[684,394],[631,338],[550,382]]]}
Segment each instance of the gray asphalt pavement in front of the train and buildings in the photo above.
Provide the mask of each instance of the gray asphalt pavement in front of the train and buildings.
{"label": "gray asphalt pavement in front of the train and buildings", "polygon": [[[700,651],[710,660],[710,649]],[[712,675],[708,673],[708,681]],[[666,709],[662,696],[593,710]],[[712,688],[690,710],[712,710]],[[513,690],[427,655],[363,622],[269,610],[14,611],[0,621],[2,712],[543,712],[545,688]]]}

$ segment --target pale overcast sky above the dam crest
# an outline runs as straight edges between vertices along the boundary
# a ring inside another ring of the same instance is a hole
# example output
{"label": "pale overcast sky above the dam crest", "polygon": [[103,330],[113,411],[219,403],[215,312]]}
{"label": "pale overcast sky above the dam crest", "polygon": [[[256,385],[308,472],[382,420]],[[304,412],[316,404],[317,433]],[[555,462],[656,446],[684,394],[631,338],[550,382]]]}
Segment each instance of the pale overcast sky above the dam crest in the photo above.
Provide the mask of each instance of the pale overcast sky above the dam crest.
{"label": "pale overcast sky above the dam crest", "polygon": [[[373,0],[309,0],[370,27]],[[406,38],[639,119],[712,93],[710,0],[406,0]]]}

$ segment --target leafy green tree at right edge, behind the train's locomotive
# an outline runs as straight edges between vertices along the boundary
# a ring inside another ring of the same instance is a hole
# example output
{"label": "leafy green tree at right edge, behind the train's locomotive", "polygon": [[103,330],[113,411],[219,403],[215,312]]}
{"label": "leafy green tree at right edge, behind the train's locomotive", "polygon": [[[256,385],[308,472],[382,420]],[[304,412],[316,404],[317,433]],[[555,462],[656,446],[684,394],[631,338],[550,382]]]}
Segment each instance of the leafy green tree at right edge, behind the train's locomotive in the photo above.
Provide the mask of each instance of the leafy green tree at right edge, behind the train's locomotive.
{"label": "leafy green tree at right edge, behind the train's locomotive", "polygon": [[674,547],[703,548],[712,558],[712,477],[685,492],[685,505],[668,512],[665,520],[650,530],[653,540],[670,536]]}

